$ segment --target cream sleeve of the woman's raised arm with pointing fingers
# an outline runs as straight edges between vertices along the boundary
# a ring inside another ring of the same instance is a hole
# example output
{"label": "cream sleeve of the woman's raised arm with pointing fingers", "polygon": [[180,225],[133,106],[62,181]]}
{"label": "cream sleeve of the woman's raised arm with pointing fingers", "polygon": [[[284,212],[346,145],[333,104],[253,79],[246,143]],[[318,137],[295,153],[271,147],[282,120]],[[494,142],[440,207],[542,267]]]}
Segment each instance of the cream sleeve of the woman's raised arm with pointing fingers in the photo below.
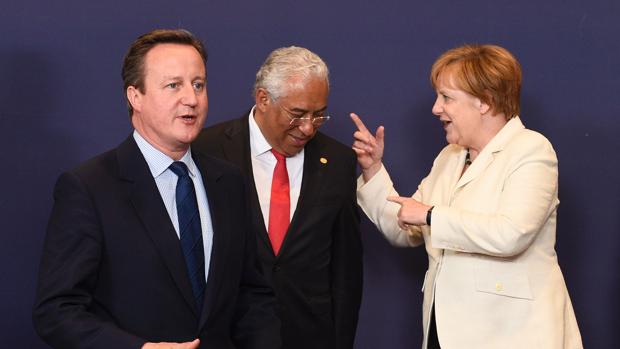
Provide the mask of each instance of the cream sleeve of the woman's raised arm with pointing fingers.
{"label": "cream sleeve of the woman's raised arm with pointing fingers", "polygon": [[[423,185],[424,181],[421,185]],[[405,231],[398,226],[400,205],[387,201],[388,196],[399,196],[385,166],[368,182],[360,175],[357,179],[357,202],[377,229],[394,246],[419,246],[424,243],[420,227],[411,226]],[[420,191],[413,198],[421,201]],[[433,211],[434,212],[434,211]]]}

